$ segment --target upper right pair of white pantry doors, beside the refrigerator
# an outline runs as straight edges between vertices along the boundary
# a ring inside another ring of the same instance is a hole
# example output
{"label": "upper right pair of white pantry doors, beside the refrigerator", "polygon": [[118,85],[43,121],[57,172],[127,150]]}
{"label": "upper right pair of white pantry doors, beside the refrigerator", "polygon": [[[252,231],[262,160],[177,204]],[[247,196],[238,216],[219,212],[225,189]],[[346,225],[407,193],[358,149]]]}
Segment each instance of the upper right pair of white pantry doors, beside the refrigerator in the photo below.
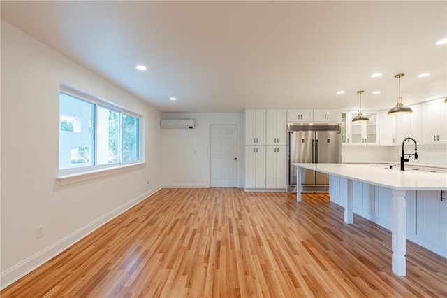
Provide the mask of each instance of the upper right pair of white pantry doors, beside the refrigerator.
{"label": "upper right pair of white pantry doors, beside the refrigerator", "polygon": [[287,113],[286,110],[267,110],[266,143],[267,145],[286,145]]}

